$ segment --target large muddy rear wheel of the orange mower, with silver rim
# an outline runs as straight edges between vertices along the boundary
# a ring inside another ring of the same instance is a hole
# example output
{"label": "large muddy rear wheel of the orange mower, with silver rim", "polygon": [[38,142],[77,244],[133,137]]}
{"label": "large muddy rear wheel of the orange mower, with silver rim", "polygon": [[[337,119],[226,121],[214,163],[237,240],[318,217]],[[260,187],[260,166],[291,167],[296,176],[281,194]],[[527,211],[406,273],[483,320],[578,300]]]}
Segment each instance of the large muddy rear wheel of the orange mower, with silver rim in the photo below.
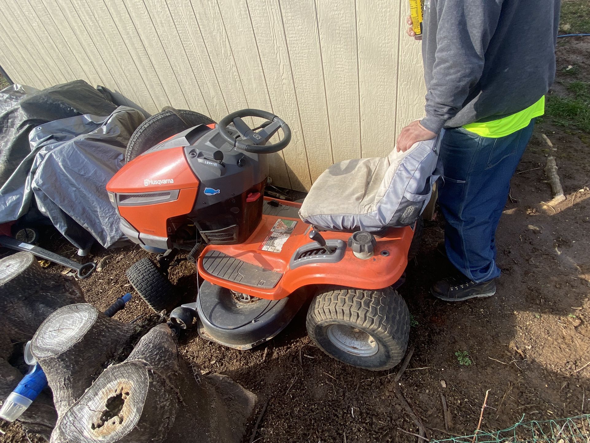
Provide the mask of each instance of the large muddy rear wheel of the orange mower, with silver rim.
{"label": "large muddy rear wheel of the orange mower, with silver rim", "polygon": [[312,300],[307,333],[336,360],[373,371],[390,369],[408,346],[409,311],[391,288],[328,288]]}

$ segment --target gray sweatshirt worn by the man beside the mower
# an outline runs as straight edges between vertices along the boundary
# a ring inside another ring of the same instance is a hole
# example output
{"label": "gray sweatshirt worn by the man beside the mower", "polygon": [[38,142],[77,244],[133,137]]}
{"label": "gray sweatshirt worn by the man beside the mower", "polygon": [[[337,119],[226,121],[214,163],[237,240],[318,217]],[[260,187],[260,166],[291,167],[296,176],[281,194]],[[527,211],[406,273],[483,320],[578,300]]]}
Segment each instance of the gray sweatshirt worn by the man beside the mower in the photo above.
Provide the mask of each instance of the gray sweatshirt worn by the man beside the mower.
{"label": "gray sweatshirt worn by the man beside the mower", "polygon": [[560,0],[425,0],[422,125],[438,133],[533,105],[555,79]]}

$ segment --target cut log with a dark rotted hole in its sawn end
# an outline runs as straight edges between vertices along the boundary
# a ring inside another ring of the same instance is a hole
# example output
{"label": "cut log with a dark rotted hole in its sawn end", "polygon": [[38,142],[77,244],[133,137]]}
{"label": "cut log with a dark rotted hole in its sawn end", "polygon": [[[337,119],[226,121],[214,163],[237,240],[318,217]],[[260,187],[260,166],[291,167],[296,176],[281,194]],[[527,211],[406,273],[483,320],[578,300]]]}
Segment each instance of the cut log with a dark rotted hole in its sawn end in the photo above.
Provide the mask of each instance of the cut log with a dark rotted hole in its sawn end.
{"label": "cut log with a dark rotted hole in its sawn end", "polygon": [[162,324],[60,415],[51,442],[239,443],[254,402],[227,377],[196,376]]}

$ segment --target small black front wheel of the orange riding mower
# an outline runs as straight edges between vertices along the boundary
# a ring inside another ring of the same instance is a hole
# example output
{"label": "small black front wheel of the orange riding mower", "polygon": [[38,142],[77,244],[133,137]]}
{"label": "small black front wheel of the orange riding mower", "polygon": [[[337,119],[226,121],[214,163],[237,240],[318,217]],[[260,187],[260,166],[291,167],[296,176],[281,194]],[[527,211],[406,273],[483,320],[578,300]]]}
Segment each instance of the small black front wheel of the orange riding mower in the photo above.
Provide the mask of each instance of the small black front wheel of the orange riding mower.
{"label": "small black front wheel of the orange riding mower", "polygon": [[155,312],[178,305],[179,298],[171,282],[149,258],[133,263],[125,274],[133,289]]}

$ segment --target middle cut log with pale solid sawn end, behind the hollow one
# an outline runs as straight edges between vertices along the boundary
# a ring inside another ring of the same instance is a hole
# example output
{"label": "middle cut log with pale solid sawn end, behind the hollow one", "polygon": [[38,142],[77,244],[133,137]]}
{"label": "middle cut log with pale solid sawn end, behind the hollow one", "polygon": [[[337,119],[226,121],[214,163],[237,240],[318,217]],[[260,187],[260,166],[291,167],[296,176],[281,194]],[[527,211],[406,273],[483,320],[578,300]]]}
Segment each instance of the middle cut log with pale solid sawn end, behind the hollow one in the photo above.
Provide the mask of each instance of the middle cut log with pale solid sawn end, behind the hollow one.
{"label": "middle cut log with pale solid sawn end, behind the hollow one", "polygon": [[31,352],[47,376],[58,415],[80,398],[106,361],[129,345],[135,331],[87,303],[64,306],[47,317],[32,338]]}

